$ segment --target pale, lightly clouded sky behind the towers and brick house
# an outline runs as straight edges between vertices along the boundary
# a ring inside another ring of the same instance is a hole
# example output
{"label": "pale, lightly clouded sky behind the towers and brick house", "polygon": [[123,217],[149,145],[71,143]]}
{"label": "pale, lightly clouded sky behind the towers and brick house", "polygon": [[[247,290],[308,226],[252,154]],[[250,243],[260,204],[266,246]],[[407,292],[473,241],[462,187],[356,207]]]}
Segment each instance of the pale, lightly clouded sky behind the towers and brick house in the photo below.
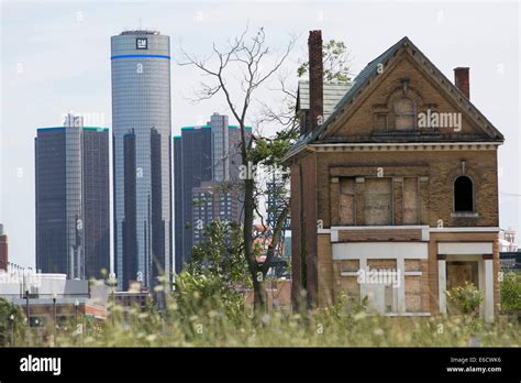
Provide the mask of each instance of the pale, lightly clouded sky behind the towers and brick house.
{"label": "pale, lightly clouded sky behind the towers and brick house", "polygon": [[[517,2],[485,1],[0,0],[0,223],[10,261],[35,264],[36,129],[60,125],[67,111],[110,128],[110,36],[140,26],[170,36],[174,135],[180,127],[203,124],[212,112],[229,113],[222,97],[192,101],[204,78],[179,65],[181,48],[206,56],[213,42],[223,46],[246,25],[264,28],[274,53],[297,37],[284,68],[295,85],[308,31],[315,29],[324,40],[345,42],[353,74],[406,35],[450,79],[453,68],[469,66],[470,100],[506,136],[498,164],[500,227],[519,231],[520,15]],[[266,89],[257,96],[270,95]]]}

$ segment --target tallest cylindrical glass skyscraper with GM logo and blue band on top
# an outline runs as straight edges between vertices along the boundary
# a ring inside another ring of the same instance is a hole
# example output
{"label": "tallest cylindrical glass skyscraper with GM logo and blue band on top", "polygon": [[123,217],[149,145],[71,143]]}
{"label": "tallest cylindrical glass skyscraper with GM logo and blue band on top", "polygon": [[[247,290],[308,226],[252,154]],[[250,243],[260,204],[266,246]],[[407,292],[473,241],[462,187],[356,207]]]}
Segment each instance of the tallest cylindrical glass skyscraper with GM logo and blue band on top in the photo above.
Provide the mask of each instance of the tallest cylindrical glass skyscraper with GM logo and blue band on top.
{"label": "tallest cylindrical glass skyscraper with GM logo and blue band on top", "polygon": [[111,39],[114,266],[118,287],[171,272],[170,39]]}

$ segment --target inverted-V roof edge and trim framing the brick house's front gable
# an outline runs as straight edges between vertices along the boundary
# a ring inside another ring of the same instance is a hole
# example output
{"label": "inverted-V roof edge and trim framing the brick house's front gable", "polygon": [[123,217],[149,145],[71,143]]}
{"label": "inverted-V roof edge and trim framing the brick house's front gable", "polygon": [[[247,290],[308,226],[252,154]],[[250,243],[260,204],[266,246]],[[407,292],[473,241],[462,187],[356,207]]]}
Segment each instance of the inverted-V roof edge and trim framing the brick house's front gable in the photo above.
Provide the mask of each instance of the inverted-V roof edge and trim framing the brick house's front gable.
{"label": "inverted-V roof edge and trim framing the brick house's front gable", "polygon": [[492,125],[490,121],[470,102],[468,98],[466,98],[462,91],[446,78],[443,73],[437,69],[437,67],[431,63],[431,61],[423,55],[423,53],[409,40],[409,37],[404,36],[387,51],[385,51],[381,55],[373,59],[367,64],[367,66],[355,77],[353,80],[353,85],[350,89],[345,92],[339,103],[334,107],[332,113],[326,118],[324,123],[320,125],[318,129],[309,132],[306,135],[299,138],[299,140],[295,143],[295,145],[290,149],[288,154],[285,156],[285,160],[288,160],[297,152],[300,151],[301,146],[313,143],[320,142],[328,129],[333,124],[340,114],[342,114],[345,109],[348,107],[351,102],[353,102],[358,95],[361,95],[364,90],[366,85],[368,85],[369,80],[376,76],[378,76],[378,69],[380,65],[383,67],[387,67],[389,61],[392,59],[400,50],[410,48],[413,52],[414,58],[418,63],[422,65],[426,65],[429,67],[428,74],[431,75],[439,84],[443,84],[447,90],[447,94],[451,95],[456,101],[462,105],[462,110],[468,111],[474,118],[475,121],[479,122],[479,127],[488,133],[490,136],[489,141],[498,141],[502,142],[505,140],[503,135]]}

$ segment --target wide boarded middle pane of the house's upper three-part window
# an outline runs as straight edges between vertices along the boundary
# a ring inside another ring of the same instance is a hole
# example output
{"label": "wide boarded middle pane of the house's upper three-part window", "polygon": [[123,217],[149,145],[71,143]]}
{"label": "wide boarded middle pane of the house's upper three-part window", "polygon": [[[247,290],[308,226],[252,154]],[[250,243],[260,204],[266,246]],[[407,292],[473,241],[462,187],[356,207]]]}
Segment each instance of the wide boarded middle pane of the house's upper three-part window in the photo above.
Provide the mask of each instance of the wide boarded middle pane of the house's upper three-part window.
{"label": "wide boarded middle pane of the house's upper three-part window", "polygon": [[366,178],[365,223],[391,225],[390,178]]}

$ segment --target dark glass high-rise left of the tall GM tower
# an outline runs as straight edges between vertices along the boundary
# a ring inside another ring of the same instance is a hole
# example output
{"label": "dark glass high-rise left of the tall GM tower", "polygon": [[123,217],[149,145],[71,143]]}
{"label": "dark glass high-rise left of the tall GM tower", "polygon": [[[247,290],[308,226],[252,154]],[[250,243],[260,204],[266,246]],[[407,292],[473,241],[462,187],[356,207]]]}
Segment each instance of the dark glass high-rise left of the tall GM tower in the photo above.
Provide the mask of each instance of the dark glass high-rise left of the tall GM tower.
{"label": "dark glass high-rise left of the tall GM tower", "polygon": [[73,114],[40,128],[35,176],[36,269],[101,277],[110,267],[109,130]]}

